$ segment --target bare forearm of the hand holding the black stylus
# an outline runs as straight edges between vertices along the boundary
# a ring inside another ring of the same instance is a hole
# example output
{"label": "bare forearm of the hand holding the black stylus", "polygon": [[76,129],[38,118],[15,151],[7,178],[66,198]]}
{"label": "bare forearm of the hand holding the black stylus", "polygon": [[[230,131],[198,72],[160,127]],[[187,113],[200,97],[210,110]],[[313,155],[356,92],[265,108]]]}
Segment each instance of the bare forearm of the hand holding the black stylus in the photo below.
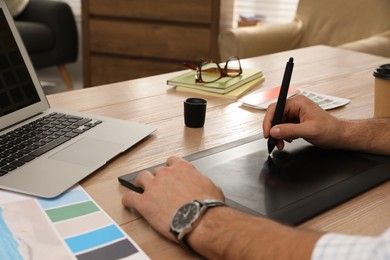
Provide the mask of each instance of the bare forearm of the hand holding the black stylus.
{"label": "bare forearm of the hand holding the black stylus", "polygon": [[340,120],[335,148],[390,155],[390,119]]}

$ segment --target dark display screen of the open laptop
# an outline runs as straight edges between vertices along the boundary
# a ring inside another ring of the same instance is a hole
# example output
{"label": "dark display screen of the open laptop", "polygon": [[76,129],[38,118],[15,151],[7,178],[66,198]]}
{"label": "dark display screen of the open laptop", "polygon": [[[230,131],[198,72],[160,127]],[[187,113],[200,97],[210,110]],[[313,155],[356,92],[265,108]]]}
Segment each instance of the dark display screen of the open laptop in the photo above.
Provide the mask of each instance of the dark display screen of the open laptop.
{"label": "dark display screen of the open laptop", "polygon": [[0,116],[39,101],[4,13],[0,12]]}

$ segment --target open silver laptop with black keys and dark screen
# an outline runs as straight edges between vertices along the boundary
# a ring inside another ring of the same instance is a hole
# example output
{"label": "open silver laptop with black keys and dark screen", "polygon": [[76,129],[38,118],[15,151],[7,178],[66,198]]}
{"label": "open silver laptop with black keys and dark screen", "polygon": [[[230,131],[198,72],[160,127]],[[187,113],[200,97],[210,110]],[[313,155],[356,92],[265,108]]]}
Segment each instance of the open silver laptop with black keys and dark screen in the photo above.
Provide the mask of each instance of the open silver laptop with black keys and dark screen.
{"label": "open silver laptop with black keys and dark screen", "polygon": [[156,129],[49,103],[0,1],[0,188],[52,198]]}

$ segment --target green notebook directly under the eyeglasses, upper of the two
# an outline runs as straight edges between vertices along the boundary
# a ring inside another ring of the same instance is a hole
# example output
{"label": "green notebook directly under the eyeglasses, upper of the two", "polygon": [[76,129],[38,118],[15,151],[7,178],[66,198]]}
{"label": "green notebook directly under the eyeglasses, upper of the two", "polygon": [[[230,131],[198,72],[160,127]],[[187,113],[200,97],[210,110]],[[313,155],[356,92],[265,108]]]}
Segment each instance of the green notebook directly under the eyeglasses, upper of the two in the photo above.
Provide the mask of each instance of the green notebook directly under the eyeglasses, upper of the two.
{"label": "green notebook directly under the eyeglasses, upper of the two", "polygon": [[196,83],[195,71],[189,71],[182,75],[168,79],[167,84],[170,86],[189,87],[192,89],[199,89],[213,93],[225,94],[236,88],[245,85],[246,83],[263,77],[263,72],[260,69],[243,68],[242,74],[238,77],[221,78],[218,81],[212,83]]}

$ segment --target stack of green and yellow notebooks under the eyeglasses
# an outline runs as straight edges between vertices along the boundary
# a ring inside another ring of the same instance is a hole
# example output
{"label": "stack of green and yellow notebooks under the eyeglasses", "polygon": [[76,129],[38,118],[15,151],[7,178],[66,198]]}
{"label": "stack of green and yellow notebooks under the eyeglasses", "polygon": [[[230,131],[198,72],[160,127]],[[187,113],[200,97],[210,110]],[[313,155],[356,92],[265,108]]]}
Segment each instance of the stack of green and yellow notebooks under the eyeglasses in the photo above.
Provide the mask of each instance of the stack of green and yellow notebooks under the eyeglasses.
{"label": "stack of green and yellow notebooks under the eyeglasses", "polygon": [[243,68],[240,76],[234,78],[224,77],[212,83],[196,83],[195,72],[189,71],[169,79],[167,84],[175,87],[177,91],[237,100],[263,81],[264,75],[262,70]]}

